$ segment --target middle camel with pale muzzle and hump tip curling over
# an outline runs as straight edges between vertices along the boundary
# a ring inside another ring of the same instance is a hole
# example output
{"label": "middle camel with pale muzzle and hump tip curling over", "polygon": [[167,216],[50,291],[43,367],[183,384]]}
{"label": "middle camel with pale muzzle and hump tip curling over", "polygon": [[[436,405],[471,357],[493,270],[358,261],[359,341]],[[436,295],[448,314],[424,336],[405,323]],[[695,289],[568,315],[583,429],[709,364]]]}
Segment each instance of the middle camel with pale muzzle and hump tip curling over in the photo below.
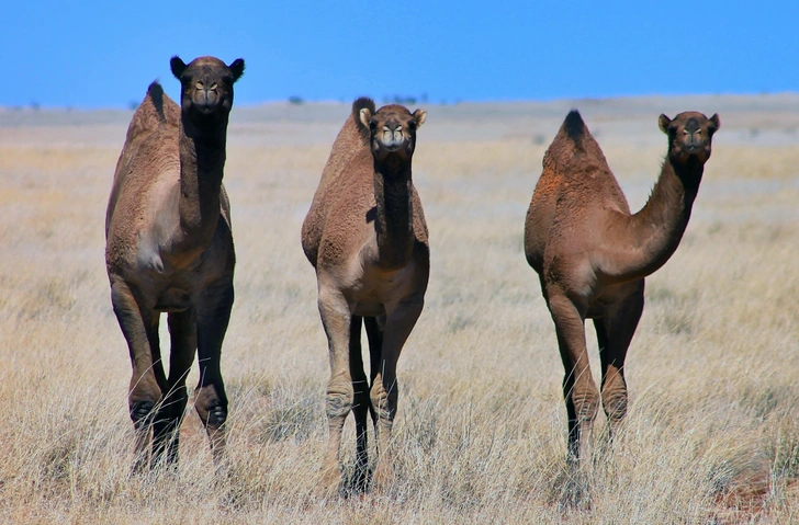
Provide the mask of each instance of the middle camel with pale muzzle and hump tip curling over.
{"label": "middle camel with pale muzzle and hump tip curling over", "polygon": [[[421,313],[430,269],[427,225],[410,176],[416,129],[426,116],[396,104],[375,112],[370,99],[355,101],[303,222],[303,250],[316,269],[330,355],[330,437],[322,476],[329,492],[341,488],[339,447],[350,410],[357,431],[355,486],[362,490],[368,482],[368,411],[378,442],[374,487],[385,487],[391,476],[396,364]],[[361,356],[361,320],[371,389]]]}

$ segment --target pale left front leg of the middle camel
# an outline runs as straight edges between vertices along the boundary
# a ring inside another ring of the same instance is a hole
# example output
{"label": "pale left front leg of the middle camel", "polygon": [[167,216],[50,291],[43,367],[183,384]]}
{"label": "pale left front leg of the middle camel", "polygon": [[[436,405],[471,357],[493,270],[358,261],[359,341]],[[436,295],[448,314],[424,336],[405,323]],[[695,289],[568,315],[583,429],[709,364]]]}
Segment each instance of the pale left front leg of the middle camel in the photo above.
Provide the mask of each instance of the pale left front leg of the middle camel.
{"label": "pale left front leg of the middle camel", "polygon": [[352,313],[347,299],[333,286],[319,285],[318,306],[330,357],[330,379],[327,383],[325,400],[329,441],[322,463],[320,483],[322,490],[329,495],[341,489],[341,431],[355,398],[350,370]]}

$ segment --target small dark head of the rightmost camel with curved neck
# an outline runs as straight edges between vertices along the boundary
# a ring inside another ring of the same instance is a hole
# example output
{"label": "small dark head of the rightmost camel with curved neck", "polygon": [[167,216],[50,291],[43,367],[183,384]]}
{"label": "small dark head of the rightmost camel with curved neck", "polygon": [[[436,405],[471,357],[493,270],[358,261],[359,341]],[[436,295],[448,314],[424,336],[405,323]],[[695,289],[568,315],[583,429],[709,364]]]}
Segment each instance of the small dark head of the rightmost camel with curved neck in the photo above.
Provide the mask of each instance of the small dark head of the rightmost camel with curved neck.
{"label": "small dark head of the rightmost camel with curved neck", "polygon": [[701,166],[710,158],[713,134],[721,123],[719,115],[710,118],[696,111],[686,111],[674,117],[659,118],[661,130],[668,135],[668,158],[680,166]]}

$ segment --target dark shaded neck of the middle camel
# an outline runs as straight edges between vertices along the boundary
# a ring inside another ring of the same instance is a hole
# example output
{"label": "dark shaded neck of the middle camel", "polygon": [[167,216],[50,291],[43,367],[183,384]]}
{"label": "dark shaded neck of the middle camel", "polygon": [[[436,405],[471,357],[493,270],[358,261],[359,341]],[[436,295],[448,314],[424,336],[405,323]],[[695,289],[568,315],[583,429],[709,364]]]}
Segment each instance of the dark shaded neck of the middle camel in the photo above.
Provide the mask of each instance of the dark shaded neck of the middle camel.
{"label": "dark shaded neck of the middle camel", "polygon": [[410,162],[390,166],[374,162],[374,199],[378,216],[379,265],[398,270],[410,262],[414,248],[414,228]]}

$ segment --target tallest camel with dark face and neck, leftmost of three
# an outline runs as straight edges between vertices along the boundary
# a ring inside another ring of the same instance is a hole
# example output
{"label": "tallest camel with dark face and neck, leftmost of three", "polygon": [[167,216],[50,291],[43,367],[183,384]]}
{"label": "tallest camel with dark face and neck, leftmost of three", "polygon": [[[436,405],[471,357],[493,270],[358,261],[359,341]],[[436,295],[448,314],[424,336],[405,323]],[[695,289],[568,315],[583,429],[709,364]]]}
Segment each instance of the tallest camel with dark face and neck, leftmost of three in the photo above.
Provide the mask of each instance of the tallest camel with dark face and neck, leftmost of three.
{"label": "tallest camel with dark face and neck, leftmost of three", "polygon": [[[150,468],[177,465],[185,376],[195,351],[195,408],[216,464],[225,448],[220,355],[236,258],[222,178],[233,84],[244,60],[226,66],[200,57],[187,66],[176,56],[170,66],[181,84],[180,106],[158,82],[149,85],[127,128],[105,216],[111,303],[133,365],[134,471],[147,465],[150,434]],[[170,333],[168,377],[158,341],[161,312]]]}

